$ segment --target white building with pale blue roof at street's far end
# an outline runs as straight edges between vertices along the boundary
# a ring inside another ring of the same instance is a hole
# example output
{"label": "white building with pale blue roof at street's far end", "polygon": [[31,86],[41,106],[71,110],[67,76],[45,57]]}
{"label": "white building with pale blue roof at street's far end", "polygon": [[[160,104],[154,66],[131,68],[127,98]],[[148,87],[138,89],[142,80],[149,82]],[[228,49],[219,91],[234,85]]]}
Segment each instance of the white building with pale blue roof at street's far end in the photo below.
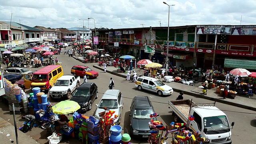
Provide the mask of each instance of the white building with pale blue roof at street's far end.
{"label": "white building with pale blue roof at street's far end", "polygon": [[92,31],[89,29],[73,27],[73,28],[69,28],[68,30],[76,32],[76,36],[80,36],[81,41],[92,39]]}

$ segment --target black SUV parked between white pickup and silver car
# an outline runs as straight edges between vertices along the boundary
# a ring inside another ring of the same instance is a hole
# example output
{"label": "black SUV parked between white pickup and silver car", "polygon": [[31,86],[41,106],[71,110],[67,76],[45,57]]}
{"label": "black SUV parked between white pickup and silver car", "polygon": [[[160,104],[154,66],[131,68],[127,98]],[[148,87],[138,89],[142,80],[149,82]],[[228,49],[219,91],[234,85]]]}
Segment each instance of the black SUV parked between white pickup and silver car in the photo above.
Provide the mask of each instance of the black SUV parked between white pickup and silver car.
{"label": "black SUV parked between white pickup and silver car", "polygon": [[98,96],[98,86],[94,82],[87,82],[76,89],[70,100],[77,102],[81,106],[78,111],[86,111],[92,109],[92,103]]}

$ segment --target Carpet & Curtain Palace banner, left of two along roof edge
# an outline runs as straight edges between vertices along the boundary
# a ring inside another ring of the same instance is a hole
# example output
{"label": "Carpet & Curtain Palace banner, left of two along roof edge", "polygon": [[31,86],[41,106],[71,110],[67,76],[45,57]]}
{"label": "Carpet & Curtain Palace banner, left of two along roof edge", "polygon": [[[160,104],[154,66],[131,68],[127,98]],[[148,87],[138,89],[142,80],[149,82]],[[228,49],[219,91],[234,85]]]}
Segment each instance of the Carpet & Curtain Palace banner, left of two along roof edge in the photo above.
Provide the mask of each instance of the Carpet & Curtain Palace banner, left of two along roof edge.
{"label": "Carpet & Curtain Palace banner, left of two along roof edge", "polygon": [[203,25],[196,26],[196,34],[230,34],[230,26]]}

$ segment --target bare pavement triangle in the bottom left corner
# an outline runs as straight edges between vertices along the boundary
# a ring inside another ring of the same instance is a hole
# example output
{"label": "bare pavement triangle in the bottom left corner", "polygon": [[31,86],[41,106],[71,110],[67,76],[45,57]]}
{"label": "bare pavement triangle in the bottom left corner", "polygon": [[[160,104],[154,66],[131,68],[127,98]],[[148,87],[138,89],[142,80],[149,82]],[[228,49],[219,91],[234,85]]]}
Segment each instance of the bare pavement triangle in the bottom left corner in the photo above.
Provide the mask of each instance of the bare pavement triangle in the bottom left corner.
{"label": "bare pavement triangle in the bottom left corner", "polygon": [[[36,140],[18,131],[19,144],[39,144]],[[8,121],[0,117],[0,140],[1,144],[16,144],[15,128]],[[12,142],[14,141],[14,142]]]}

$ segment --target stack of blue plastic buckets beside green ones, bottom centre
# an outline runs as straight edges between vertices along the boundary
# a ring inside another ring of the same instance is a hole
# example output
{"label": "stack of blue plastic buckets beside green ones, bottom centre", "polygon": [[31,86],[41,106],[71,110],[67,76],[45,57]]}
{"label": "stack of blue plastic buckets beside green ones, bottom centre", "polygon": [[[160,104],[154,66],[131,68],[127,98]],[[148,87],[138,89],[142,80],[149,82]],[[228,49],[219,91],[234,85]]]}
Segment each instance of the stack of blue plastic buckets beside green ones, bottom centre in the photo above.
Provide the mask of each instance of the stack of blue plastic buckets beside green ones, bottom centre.
{"label": "stack of blue plastic buckets beside green ones, bottom centre", "polygon": [[111,126],[110,128],[110,142],[111,144],[120,144],[122,141],[122,127],[115,125],[115,126]]}

